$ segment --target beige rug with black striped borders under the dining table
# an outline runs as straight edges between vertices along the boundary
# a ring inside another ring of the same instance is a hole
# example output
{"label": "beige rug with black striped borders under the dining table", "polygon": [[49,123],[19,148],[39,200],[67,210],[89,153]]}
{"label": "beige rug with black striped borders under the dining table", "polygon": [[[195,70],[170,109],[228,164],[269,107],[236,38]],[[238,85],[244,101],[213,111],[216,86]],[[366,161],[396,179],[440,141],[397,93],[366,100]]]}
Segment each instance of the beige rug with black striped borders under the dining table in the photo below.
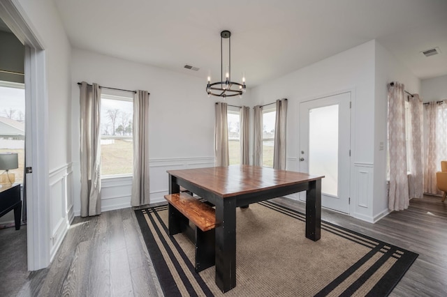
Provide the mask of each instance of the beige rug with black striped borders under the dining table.
{"label": "beige rug with black striped borders under the dining table", "polygon": [[311,241],[305,215],[271,201],[236,212],[236,287],[222,294],[214,266],[194,271],[193,243],[168,236],[168,206],[135,211],[165,296],[388,296],[418,257],[323,221]]}

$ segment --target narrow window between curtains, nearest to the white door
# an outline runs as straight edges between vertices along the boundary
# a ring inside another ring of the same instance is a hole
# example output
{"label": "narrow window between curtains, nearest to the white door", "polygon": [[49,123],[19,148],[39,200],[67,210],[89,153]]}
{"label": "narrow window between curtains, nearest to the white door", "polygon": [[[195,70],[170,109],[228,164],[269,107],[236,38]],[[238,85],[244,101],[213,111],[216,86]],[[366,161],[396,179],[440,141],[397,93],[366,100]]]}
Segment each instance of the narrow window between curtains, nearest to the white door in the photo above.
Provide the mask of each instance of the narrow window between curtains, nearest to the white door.
{"label": "narrow window between curtains, nearest to the white door", "polygon": [[275,108],[263,110],[263,167],[273,167]]}

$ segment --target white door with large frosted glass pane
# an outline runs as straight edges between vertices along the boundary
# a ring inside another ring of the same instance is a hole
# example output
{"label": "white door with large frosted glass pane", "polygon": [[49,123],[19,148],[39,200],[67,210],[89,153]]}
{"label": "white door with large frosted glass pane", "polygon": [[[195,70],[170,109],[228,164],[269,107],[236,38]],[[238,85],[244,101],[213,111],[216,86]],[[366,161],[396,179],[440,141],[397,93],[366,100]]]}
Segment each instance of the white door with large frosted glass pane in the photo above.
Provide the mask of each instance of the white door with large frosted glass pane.
{"label": "white door with large frosted glass pane", "polygon": [[321,206],[343,213],[349,213],[350,143],[350,92],[300,103],[300,172],[325,176]]}

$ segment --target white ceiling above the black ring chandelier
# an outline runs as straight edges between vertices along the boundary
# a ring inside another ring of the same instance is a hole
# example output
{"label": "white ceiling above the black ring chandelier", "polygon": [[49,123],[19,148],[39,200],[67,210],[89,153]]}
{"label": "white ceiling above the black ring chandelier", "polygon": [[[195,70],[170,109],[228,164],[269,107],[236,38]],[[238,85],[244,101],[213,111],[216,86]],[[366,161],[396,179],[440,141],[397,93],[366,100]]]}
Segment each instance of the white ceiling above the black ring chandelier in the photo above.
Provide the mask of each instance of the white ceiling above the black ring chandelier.
{"label": "white ceiling above the black ring chandelier", "polygon": [[[232,32],[232,80],[245,73],[248,87],[374,38],[420,79],[447,75],[446,0],[54,3],[73,47],[203,77],[204,83],[208,73],[220,80],[224,29]],[[441,54],[420,53],[432,47]]]}

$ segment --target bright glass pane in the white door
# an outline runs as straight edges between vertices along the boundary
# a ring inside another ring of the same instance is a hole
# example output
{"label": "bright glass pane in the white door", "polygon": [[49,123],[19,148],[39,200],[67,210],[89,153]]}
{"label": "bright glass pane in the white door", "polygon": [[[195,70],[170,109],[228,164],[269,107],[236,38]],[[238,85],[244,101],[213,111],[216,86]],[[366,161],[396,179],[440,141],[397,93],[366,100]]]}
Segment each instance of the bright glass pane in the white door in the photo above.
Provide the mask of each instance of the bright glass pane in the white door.
{"label": "bright glass pane in the white door", "polygon": [[309,110],[309,174],[324,175],[321,192],[337,196],[338,105]]}

